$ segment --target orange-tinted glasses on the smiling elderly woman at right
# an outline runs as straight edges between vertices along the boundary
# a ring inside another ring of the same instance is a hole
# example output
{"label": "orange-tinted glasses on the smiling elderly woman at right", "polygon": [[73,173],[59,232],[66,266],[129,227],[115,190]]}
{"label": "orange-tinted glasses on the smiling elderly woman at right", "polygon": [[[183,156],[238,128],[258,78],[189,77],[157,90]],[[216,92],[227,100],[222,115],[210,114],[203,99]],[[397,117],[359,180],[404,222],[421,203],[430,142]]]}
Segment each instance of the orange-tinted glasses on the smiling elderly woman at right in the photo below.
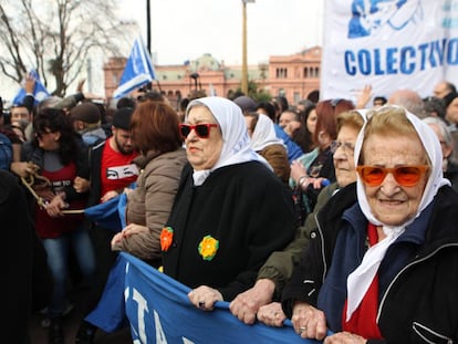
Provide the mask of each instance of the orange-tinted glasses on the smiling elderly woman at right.
{"label": "orange-tinted glasses on the smiling elderly woman at right", "polygon": [[356,167],[361,179],[368,186],[381,185],[387,174],[392,174],[400,186],[415,186],[428,169],[429,166],[427,165],[399,166],[395,168],[364,165]]}

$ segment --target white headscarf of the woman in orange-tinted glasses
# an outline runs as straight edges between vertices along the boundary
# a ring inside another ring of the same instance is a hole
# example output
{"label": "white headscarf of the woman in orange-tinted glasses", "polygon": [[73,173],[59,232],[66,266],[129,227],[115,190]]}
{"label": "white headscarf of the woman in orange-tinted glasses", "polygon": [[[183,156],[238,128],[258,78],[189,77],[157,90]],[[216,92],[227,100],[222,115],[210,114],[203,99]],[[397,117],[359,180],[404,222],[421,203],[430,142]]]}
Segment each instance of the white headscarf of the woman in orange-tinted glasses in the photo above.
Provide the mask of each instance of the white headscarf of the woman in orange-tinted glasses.
{"label": "white headscarf of the woman in orange-tinted glasses", "polygon": [[[405,112],[407,119],[414,125],[421,140],[421,144],[429,157],[429,160],[431,163],[430,175],[428,181],[426,183],[426,187],[423,192],[417,213],[415,215],[415,217],[407,220],[405,223],[400,226],[386,226],[374,217],[368,205],[366,194],[364,191],[364,184],[361,180],[360,175],[357,175],[356,192],[360,207],[369,222],[374,223],[375,226],[383,227],[383,231],[386,234],[386,238],[371,247],[364,254],[363,261],[360,264],[360,267],[357,267],[356,270],[348,275],[346,321],[351,319],[353,312],[357,309],[365,293],[367,292],[367,289],[374,280],[374,277],[377,273],[378,267],[383,258],[385,257],[388,247],[405,231],[406,227],[409,223],[412,223],[421,213],[421,211],[433,201],[434,197],[437,194],[437,190],[444,185],[450,185],[450,183],[443,176],[443,150],[440,149],[440,144],[437,139],[436,134],[427,124],[425,124],[417,116],[413,115],[406,110]],[[364,124],[356,140],[354,155],[355,166],[357,166],[358,164],[361,148],[364,142],[364,129],[367,123]]]}

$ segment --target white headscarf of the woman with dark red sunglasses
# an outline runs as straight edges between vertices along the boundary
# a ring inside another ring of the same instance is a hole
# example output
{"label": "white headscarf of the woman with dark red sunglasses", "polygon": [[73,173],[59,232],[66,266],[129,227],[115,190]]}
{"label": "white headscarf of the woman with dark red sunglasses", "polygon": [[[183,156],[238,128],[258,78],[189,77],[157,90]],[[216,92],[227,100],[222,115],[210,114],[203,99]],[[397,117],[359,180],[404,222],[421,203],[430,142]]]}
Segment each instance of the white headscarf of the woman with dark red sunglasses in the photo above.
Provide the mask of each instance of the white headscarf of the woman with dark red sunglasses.
{"label": "white headscarf of the woman with dark red sunglasses", "polygon": [[211,112],[222,133],[222,149],[218,161],[210,169],[195,170],[194,184],[200,186],[214,170],[223,166],[247,161],[260,161],[269,169],[269,163],[250,147],[247,124],[240,107],[228,98],[209,96],[191,101],[186,110],[186,119],[192,106],[202,104]]}

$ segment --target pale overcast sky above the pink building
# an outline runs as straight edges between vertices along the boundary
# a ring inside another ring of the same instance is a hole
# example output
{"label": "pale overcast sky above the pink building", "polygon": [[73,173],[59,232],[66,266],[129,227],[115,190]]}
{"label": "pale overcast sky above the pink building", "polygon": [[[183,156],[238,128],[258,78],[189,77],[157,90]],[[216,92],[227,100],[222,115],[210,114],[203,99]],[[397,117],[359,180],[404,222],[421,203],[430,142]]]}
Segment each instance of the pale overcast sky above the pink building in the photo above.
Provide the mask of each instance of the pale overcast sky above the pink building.
{"label": "pale overcast sky above the pink building", "polygon": [[[247,3],[248,64],[322,45],[323,0],[256,0]],[[147,0],[119,0],[123,19],[136,20],[145,43]],[[135,8],[136,11],[132,9]],[[242,0],[150,0],[155,63],[183,64],[210,53],[241,64]],[[128,51],[126,52],[128,55]]]}

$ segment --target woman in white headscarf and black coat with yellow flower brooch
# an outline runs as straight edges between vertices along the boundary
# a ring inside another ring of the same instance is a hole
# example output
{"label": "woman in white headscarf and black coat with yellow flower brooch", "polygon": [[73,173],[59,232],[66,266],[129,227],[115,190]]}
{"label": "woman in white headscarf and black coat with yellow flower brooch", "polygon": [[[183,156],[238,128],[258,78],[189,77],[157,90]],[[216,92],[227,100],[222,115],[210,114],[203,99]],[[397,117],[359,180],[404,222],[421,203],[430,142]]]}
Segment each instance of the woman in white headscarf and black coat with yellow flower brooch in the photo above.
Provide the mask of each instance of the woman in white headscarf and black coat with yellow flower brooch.
{"label": "woman in white headscarf and black coat with yellow flower brooch", "polygon": [[160,234],[164,272],[194,289],[191,303],[212,310],[251,288],[269,254],[293,239],[293,201],[250,147],[233,102],[190,102],[180,133],[189,164]]}

